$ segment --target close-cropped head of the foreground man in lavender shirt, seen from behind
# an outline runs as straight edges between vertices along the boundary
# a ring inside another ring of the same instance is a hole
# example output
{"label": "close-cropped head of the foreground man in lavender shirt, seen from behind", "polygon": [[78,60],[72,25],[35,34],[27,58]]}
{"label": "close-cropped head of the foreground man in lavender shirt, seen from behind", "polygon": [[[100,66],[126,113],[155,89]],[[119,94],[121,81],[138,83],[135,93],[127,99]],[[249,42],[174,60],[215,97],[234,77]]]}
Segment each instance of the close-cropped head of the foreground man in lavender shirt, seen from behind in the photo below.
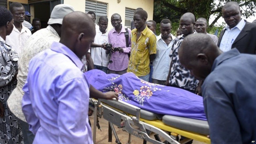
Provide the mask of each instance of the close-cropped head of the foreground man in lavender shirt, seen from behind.
{"label": "close-cropped head of the foreground man in lavender shirt, seen from behind", "polygon": [[72,12],[63,18],[60,42],[79,58],[89,50],[96,34],[91,18],[83,12]]}

